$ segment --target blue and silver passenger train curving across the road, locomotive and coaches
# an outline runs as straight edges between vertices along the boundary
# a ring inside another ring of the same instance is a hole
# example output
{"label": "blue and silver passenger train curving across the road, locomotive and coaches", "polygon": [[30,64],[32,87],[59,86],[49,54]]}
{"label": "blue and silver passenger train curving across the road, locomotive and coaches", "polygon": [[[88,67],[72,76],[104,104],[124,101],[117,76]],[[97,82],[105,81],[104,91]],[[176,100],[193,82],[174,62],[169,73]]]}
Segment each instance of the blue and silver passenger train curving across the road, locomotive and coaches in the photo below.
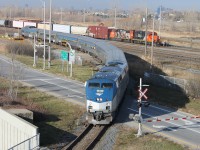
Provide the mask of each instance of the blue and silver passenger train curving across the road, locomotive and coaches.
{"label": "blue and silver passenger train curving across the road, locomotive and coaches", "polygon": [[[44,40],[44,30],[33,26],[23,27],[21,34]],[[45,34],[49,36],[48,31]],[[87,51],[102,60],[104,66],[85,84],[86,120],[94,125],[110,124],[129,82],[128,63],[122,50],[105,40],[57,31],[52,31],[51,41],[67,41],[72,48]]]}

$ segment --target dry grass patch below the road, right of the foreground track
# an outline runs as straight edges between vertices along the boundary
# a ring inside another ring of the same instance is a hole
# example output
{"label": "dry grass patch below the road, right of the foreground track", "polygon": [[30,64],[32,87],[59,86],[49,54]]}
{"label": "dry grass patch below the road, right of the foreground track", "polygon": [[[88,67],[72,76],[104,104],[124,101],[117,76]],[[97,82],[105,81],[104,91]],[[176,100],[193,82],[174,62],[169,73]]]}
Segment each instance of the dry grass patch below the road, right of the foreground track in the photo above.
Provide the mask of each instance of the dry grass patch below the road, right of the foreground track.
{"label": "dry grass patch below the road, right of the foreground track", "polygon": [[152,134],[141,138],[135,136],[137,131],[127,127],[121,127],[116,140],[114,150],[186,150],[172,141]]}

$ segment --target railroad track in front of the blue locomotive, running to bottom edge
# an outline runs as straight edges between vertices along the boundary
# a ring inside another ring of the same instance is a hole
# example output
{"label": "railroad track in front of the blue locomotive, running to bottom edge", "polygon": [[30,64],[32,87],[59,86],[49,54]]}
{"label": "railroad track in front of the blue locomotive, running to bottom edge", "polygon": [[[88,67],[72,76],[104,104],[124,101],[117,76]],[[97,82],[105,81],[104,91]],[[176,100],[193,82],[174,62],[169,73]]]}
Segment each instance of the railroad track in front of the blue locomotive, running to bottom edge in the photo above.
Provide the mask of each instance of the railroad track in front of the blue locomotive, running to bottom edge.
{"label": "railroad track in front of the blue locomotive, running to bottom edge", "polygon": [[63,147],[62,150],[91,150],[99,142],[108,128],[108,125],[89,125],[73,142]]}

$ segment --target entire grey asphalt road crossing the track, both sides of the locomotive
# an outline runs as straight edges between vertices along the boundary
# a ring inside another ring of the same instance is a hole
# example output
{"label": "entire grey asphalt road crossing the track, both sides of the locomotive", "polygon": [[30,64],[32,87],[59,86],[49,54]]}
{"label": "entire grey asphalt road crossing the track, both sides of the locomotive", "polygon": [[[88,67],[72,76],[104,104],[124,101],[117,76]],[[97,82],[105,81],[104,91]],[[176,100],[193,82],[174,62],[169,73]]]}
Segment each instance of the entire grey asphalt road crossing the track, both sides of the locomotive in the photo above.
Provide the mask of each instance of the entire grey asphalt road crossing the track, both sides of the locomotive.
{"label": "entire grey asphalt road crossing the track, both sides of the locomotive", "polygon": [[[34,86],[40,90],[51,93],[55,96],[64,98],[67,101],[80,105],[85,105],[85,90],[83,83],[57,77],[52,74],[43,73],[35,69],[29,69],[17,62],[15,74],[19,73],[21,81],[25,84]],[[17,65],[18,64],[18,65]],[[21,66],[21,67],[17,67]],[[11,71],[11,62],[8,58],[0,55],[0,75],[9,77]],[[137,103],[133,97],[125,96],[124,102],[120,109],[120,114],[116,123],[125,123],[130,127],[137,127],[137,122],[129,119],[129,114],[138,113]],[[143,129],[150,131],[152,134],[160,134],[171,140],[185,144],[194,149],[200,149],[200,119],[174,120],[162,122],[145,122],[147,119],[165,119],[172,117],[186,117],[191,114],[179,112],[162,106],[150,105],[142,107]]]}

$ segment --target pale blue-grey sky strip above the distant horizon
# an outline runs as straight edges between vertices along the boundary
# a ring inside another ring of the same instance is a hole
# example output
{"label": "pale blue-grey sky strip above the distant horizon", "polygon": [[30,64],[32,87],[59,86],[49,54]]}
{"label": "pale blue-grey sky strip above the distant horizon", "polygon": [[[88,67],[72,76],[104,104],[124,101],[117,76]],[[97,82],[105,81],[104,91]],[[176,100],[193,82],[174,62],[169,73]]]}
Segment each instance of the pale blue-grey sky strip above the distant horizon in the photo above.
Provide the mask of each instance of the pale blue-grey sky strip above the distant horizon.
{"label": "pale blue-grey sky strip above the distant horizon", "polygon": [[[0,0],[0,6],[17,5],[28,7],[41,7],[42,0]],[[49,0],[45,0],[49,5]],[[140,7],[148,7],[155,9],[161,4],[164,7],[176,10],[200,10],[200,0],[52,0],[52,4],[59,8],[93,8],[104,9],[112,8],[114,3],[122,9],[133,9]]]}

